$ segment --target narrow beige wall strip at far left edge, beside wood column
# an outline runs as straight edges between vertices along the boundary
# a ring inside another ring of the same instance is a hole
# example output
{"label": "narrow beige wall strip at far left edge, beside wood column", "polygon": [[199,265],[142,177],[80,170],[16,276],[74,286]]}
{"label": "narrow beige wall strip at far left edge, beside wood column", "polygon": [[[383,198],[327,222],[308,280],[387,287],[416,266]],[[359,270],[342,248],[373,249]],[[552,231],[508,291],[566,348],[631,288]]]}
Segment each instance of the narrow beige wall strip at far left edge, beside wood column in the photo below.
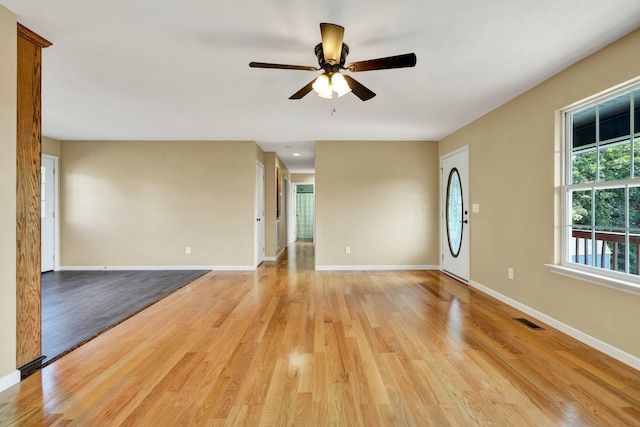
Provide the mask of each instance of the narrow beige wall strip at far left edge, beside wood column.
{"label": "narrow beige wall strip at far left edge, beside wood column", "polygon": [[16,34],[0,6],[0,380],[16,369]]}

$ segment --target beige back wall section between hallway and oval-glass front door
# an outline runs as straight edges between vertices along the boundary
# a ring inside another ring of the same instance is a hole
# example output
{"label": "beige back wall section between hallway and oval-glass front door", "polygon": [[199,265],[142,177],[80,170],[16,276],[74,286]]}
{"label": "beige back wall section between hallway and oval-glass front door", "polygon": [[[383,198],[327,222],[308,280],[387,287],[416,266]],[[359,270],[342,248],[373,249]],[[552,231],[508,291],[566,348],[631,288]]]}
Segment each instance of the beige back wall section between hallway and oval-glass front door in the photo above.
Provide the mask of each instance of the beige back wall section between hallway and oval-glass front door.
{"label": "beige back wall section between hallway and oval-glass front door", "polygon": [[435,142],[319,141],[316,266],[438,265],[438,170]]}

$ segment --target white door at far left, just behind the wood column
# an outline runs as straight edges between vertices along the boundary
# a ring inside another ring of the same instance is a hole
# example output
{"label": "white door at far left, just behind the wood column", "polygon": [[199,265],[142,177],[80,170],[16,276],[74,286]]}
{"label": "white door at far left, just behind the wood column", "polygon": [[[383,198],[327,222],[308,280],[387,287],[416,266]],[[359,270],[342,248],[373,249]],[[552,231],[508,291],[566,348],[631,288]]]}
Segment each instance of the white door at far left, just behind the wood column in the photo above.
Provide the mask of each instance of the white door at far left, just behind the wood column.
{"label": "white door at far left, just behind the wood column", "polygon": [[55,268],[56,249],[56,195],[55,195],[55,158],[42,156],[40,189],[41,229],[41,271],[51,271]]}

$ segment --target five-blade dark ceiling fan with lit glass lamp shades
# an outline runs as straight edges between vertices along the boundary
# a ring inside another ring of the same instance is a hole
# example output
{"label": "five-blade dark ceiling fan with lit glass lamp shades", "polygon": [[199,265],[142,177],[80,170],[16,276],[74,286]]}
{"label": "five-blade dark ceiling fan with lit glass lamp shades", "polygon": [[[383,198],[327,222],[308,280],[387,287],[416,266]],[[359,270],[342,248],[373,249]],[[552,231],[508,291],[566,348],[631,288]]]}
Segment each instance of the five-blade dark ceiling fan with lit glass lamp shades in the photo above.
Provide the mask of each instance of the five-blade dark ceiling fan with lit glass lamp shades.
{"label": "five-blade dark ceiling fan with lit glass lamp shades", "polygon": [[359,71],[387,70],[390,68],[405,68],[416,65],[416,54],[406,53],[404,55],[389,56],[386,58],[370,59],[368,61],[358,61],[347,64],[345,61],[349,54],[349,46],[342,42],[344,27],[336,24],[320,24],[320,35],[322,43],[315,48],[316,57],[320,67],[305,65],[271,64],[268,62],[250,62],[249,67],[253,68],[278,68],[281,70],[303,70],[324,72],[313,79],[305,87],[294,93],[289,99],[300,99],[311,90],[315,90],[323,98],[333,98],[353,92],[363,101],[376,96],[374,92],[358,83],[353,77],[343,75],[340,70],[356,73]]}

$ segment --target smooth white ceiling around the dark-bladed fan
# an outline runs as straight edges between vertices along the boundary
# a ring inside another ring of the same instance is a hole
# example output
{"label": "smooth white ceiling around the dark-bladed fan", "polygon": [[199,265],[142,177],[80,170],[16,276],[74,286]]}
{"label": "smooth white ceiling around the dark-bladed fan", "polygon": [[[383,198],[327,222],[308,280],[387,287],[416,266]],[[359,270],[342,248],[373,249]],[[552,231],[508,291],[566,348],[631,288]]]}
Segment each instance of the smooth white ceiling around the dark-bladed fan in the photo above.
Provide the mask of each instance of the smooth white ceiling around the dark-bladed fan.
{"label": "smooth white ceiling around the dark-bladed fan", "polygon": [[[640,26],[638,0],[0,4],[53,43],[44,135],[252,140],[298,172],[313,170],[317,140],[439,140]],[[291,101],[319,72],[249,68],[317,65],[321,22],[345,27],[347,62],[415,52],[417,66],[352,74],[377,93],[366,102]]]}

